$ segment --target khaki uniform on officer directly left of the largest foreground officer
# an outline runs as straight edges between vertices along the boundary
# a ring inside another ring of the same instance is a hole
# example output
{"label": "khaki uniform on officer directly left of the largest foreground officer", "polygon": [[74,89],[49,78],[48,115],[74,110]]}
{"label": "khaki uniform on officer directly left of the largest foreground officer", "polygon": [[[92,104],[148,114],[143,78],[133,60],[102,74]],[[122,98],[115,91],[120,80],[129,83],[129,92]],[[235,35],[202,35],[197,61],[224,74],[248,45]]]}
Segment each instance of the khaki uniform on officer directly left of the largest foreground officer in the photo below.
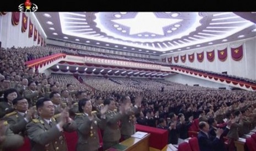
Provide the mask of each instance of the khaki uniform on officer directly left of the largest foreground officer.
{"label": "khaki uniform on officer directly left of the largest foreground officer", "polygon": [[21,114],[17,113],[16,111],[6,114],[4,119],[7,120],[8,124],[10,125],[10,130],[13,133],[19,134],[21,136],[25,136],[26,133],[26,124],[28,124]]}

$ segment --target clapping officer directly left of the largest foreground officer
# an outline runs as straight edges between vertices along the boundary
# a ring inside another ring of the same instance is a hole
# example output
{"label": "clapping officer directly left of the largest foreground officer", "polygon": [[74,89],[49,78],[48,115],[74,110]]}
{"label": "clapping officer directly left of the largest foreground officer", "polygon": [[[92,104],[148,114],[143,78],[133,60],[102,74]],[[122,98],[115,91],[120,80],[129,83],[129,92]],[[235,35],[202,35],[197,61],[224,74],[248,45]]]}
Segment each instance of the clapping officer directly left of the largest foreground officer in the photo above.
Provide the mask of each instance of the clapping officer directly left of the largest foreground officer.
{"label": "clapping officer directly left of the largest foreground officer", "polygon": [[7,120],[10,125],[10,130],[13,133],[19,134],[21,136],[26,135],[26,125],[31,121],[35,115],[35,108],[30,108],[28,110],[29,104],[26,98],[18,97],[13,100],[13,106],[15,111],[6,114],[4,119]]}

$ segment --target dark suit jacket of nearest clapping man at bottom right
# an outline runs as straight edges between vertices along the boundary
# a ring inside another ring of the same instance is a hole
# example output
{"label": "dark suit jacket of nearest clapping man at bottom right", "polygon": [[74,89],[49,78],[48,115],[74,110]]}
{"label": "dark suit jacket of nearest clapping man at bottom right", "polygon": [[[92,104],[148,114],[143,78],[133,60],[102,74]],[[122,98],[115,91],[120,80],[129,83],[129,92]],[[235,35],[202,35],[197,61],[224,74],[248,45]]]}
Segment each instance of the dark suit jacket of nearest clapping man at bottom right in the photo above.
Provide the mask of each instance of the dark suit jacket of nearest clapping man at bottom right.
{"label": "dark suit jacket of nearest clapping man at bottom right", "polygon": [[[215,137],[214,140],[211,140],[204,132],[198,132],[198,143],[200,151],[215,151],[214,146],[219,146],[220,140]],[[221,150],[218,150],[221,151]]]}

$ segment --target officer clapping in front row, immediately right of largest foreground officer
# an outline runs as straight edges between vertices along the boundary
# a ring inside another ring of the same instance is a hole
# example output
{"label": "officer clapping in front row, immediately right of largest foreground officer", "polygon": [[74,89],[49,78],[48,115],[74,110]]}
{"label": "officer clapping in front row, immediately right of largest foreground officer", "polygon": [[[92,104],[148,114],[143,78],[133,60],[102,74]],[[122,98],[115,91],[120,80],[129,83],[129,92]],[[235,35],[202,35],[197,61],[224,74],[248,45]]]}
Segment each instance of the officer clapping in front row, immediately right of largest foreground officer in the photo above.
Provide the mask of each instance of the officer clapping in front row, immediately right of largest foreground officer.
{"label": "officer clapping in front row, immediately right of largest foreground officer", "polygon": [[89,98],[79,100],[78,106],[80,113],[75,116],[75,122],[78,125],[77,151],[82,151],[85,148],[87,151],[96,151],[100,147],[98,129],[104,129],[106,125],[105,113],[108,105],[101,109],[101,119],[97,118],[96,111],[92,112]]}

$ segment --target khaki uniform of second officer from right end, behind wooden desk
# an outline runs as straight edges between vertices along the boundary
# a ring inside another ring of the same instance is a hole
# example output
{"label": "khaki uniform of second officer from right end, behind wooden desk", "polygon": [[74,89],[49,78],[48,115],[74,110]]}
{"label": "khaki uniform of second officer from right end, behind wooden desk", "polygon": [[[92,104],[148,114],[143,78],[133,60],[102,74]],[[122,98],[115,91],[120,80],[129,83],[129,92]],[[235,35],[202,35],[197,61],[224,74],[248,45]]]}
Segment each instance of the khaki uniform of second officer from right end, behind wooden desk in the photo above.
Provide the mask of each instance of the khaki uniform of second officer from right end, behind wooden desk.
{"label": "khaki uniform of second officer from right end, behind wooden desk", "polygon": [[103,149],[108,149],[119,143],[121,131],[119,128],[120,120],[124,117],[123,114],[108,110],[106,112],[107,125],[104,128]]}

